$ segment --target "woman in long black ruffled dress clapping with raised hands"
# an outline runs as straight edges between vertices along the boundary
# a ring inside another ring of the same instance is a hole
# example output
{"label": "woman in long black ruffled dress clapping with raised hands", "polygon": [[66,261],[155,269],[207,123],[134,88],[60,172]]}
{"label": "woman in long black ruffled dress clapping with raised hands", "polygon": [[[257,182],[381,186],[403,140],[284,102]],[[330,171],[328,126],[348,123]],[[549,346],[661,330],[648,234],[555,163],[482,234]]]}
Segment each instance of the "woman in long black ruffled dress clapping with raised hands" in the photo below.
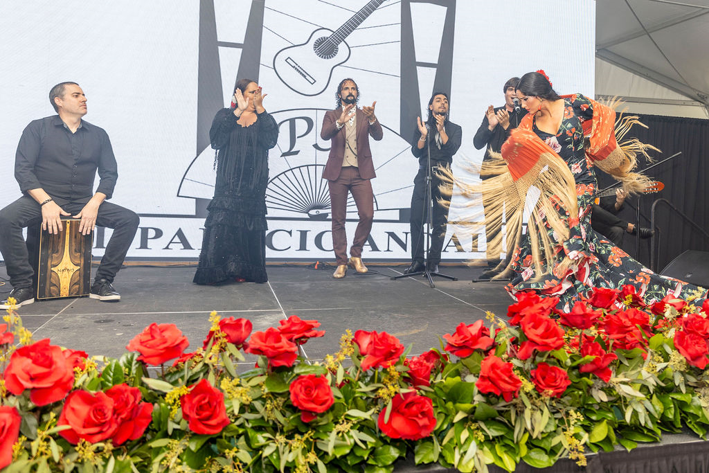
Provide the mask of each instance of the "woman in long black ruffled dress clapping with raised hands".
{"label": "woman in long black ruffled dress clapping with raised hands", "polygon": [[256,82],[240,79],[232,108],[218,111],[209,130],[217,177],[195,284],[268,280],[268,150],[277,143],[278,126],[264,109],[264,97]]}

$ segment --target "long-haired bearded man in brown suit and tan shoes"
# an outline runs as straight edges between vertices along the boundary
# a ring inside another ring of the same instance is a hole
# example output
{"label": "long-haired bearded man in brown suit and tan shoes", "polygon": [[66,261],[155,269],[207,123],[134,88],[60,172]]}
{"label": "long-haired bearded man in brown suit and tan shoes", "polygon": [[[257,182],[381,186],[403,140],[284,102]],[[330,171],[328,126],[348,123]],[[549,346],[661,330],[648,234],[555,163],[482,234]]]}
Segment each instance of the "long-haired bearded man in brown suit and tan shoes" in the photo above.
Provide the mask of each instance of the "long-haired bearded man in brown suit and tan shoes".
{"label": "long-haired bearded man in brown suit and tan shoes", "polygon": [[354,232],[350,248],[349,264],[357,272],[367,272],[362,262],[362,246],[372,230],[374,218],[374,193],[372,179],[374,164],[369,150],[369,135],[381,140],[382,130],[374,116],[374,106],[357,108],[359,89],[352,79],[344,79],[335,93],[337,108],[325,113],[320,138],[332,140],[330,157],[323,171],[323,179],[328,179],[330,206],[333,210],[333,250],[337,258],[337,269],[333,277],[340,279],[347,274],[347,192],[352,193],[357,204],[359,223]]}

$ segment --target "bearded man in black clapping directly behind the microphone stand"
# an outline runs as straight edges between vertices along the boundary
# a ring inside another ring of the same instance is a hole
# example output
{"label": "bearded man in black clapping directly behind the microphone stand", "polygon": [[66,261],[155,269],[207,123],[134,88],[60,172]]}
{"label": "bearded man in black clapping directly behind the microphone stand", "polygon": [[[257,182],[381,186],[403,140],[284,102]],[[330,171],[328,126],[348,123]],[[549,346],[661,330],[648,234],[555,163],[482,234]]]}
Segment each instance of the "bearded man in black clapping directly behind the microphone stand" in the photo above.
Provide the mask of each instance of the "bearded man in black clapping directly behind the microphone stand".
{"label": "bearded man in black clapping directly behind the microphone stand", "polygon": [[[448,221],[448,206],[441,204],[441,199],[448,199],[440,191],[442,181],[438,177],[438,169],[450,168],[453,155],[460,148],[463,131],[460,126],[448,120],[448,95],[434,92],[428,101],[428,120],[423,123],[417,118],[417,129],[414,132],[411,152],[418,158],[418,174],[413,179],[413,195],[411,196],[411,266],[404,274],[423,271],[423,224],[428,216],[430,201],[426,201],[426,175],[428,174],[428,152],[431,160],[431,200],[433,212],[431,215],[431,242],[428,249],[428,261],[425,269],[438,272],[441,259],[443,240]],[[452,187],[452,184],[450,184]]]}

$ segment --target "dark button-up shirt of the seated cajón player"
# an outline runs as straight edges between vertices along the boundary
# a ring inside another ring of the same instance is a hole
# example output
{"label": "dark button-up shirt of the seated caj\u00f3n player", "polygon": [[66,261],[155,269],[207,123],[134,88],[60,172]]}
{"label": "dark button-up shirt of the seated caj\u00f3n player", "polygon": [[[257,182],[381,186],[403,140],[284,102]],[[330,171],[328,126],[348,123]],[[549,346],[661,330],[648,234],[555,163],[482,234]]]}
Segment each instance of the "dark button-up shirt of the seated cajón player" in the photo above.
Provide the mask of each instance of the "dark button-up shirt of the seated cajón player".
{"label": "dark button-up shirt of the seated caj\u00f3n player", "polygon": [[58,115],[30,122],[22,132],[15,155],[15,179],[20,190],[44,189],[60,199],[74,200],[96,192],[110,199],[116,187],[118,169],[111,141],[103,128],[83,121],[76,133]]}

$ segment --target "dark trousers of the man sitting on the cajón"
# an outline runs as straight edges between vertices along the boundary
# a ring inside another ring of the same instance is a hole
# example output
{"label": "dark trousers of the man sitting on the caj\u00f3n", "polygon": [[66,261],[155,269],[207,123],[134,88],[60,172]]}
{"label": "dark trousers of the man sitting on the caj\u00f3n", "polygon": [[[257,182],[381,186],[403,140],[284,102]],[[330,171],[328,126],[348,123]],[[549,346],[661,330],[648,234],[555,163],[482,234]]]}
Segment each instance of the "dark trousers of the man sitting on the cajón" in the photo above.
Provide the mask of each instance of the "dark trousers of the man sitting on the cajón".
{"label": "dark trousers of the man sitting on the caj\u00f3n", "polygon": [[[84,205],[91,199],[85,197],[73,201],[54,199],[65,212],[72,215],[79,213]],[[28,260],[28,250],[22,238],[22,229],[28,226],[39,226],[42,223],[42,210],[40,204],[29,196],[22,196],[9,206],[0,210],[0,253],[5,260],[10,284],[14,289],[32,286],[34,271]],[[101,259],[101,265],[96,270],[96,279],[107,279],[113,282],[118,269],[121,269],[125,254],[133,243],[133,237],[138,230],[140,218],[138,214],[104,202],[99,206],[99,215],[96,225],[113,228],[111,240],[108,240],[106,252]]]}

